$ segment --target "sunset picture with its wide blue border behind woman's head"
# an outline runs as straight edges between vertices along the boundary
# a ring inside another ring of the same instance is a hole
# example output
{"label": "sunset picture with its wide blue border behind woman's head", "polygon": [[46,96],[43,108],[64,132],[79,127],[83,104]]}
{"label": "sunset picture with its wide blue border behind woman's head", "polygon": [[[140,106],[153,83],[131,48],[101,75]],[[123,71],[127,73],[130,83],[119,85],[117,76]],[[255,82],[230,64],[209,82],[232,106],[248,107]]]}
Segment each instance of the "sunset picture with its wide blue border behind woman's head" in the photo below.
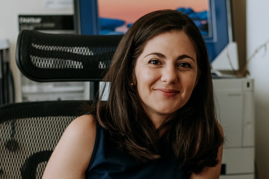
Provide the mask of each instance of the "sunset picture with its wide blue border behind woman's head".
{"label": "sunset picture with its wide blue border behind woman's head", "polygon": [[146,13],[175,9],[187,14],[200,29],[211,63],[232,40],[229,8],[229,0],[77,0],[75,26],[82,35],[124,34]]}

